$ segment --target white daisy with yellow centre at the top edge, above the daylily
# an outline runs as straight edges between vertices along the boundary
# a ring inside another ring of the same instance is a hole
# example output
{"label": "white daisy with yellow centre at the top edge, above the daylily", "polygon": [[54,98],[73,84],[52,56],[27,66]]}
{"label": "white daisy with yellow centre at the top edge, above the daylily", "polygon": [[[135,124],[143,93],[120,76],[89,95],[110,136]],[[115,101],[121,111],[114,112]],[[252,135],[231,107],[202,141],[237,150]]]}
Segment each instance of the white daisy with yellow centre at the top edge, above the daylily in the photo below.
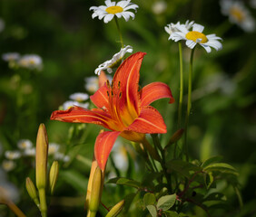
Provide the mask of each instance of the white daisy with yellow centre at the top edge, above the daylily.
{"label": "white daisy with yellow centre at the top edge, above the daylily", "polygon": [[116,15],[117,18],[121,18],[123,16],[126,22],[130,19],[130,16],[132,16],[134,19],[135,14],[128,10],[133,9],[136,12],[136,9],[138,7],[138,5],[131,3],[131,0],[123,0],[118,2],[117,4],[115,2],[112,2],[111,0],[106,0],[105,5],[101,5],[98,7],[92,6],[89,10],[94,11],[94,14],[92,15],[93,19],[97,16],[100,20],[104,18],[103,21],[105,24],[107,24],[113,19],[114,15]]}

